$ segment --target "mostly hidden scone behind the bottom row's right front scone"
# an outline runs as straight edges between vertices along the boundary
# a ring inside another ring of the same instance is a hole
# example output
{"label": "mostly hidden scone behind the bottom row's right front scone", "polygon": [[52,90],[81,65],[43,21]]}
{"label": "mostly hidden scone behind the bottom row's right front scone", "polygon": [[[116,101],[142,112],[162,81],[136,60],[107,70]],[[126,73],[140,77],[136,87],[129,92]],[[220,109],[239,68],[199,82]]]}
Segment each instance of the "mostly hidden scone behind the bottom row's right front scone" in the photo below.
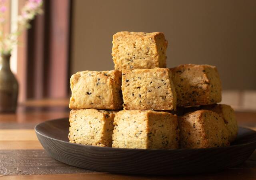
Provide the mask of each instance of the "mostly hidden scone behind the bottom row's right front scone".
{"label": "mostly hidden scone behind the bottom row's right front scone", "polygon": [[237,125],[234,109],[230,105],[225,105],[225,104],[204,105],[204,106],[198,106],[198,107],[185,108],[184,111],[188,113],[188,112],[193,112],[199,109],[207,109],[210,111],[214,111],[215,113],[218,113],[218,115],[220,115],[223,118],[226,128],[228,129],[229,142],[233,142],[236,139],[236,136],[238,134],[238,125]]}

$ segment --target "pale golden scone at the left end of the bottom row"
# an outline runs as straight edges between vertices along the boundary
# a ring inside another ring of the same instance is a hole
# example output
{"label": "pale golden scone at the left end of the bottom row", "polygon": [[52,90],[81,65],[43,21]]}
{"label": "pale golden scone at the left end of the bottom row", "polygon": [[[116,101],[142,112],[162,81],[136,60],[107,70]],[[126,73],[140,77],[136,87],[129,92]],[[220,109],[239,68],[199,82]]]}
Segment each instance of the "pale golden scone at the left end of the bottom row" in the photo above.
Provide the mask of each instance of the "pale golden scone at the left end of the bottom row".
{"label": "pale golden scone at the left end of the bottom row", "polygon": [[116,112],[96,109],[71,110],[68,134],[70,142],[111,147]]}

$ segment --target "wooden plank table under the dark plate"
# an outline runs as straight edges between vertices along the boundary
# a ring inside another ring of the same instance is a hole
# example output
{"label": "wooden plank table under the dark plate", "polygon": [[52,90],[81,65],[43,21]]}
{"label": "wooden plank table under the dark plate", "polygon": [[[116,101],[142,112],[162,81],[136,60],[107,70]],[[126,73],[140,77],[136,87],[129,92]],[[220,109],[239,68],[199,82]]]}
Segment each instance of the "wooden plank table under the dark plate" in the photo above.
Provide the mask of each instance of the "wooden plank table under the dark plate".
{"label": "wooden plank table under the dark plate", "polygon": [[[68,117],[68,100],[28,101],[16,114],[0,114],[0,180],[86,179],[256,179],[256,152],[238,167],[217,173],[190,176],[128,176],[94,172],[68,166],[51,158],[42,148],[34,126],[42,121]],[[240,126],[256,130],[256,112],[236,112]]]}

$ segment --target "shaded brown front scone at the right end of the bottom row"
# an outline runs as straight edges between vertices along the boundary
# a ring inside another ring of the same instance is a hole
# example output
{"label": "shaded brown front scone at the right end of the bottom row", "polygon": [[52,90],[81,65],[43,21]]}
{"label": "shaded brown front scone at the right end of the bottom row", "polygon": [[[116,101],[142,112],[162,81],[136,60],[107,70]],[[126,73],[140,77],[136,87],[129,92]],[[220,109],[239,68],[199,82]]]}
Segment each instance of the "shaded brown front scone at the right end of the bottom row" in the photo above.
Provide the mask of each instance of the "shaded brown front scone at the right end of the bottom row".
{"label": "shaded brown front scone at the right end of the bottom row", "polygon": [[198,110],[178,117],[181,148],[228,146],[228,130],[220,115]]}

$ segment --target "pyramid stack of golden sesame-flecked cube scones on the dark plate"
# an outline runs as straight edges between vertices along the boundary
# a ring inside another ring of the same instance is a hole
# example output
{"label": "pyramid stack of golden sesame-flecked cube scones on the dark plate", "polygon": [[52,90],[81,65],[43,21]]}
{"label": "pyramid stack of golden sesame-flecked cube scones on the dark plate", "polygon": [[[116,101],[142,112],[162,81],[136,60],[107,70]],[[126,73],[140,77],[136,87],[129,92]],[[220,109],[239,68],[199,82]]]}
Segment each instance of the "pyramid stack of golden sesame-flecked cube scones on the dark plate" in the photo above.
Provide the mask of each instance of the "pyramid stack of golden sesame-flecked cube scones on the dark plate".
{"label": "pyramid stack of golden sesame-flecked cube scones on the dark plate", "polygon": [[160,32],[118,32],[112,47],[115,70],[72,75],[70,142],[166,149],[234,141],[234,111],[216,104],[221,101],[216,67],[168,69],[166,47]]}

